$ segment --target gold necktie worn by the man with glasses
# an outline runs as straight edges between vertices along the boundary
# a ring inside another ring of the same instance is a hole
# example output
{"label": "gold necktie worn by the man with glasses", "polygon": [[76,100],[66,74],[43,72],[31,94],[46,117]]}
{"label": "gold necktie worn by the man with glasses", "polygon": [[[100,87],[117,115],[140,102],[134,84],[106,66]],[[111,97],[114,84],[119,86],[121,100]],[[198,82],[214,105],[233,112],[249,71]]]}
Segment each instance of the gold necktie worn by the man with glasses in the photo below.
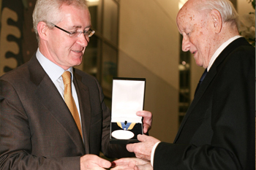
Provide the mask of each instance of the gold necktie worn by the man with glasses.
{"label": "gold necktie worn by the man with glasses", "polygon": [[75,120],[75,123],[78,126],[80,135],[83,136],[81,124],[80,124],[80,118],[78,115],[78,109],[75,105],[75,101],[74,101],[74,98],[73,98],[72,92],[71,92],[71,74],[70,74],[70,72],[66,71],[61,75],[61,77],[64,82],[64,101],[67,104],[67,107],[69,108],[69,111],[71,112],[71,114]]}

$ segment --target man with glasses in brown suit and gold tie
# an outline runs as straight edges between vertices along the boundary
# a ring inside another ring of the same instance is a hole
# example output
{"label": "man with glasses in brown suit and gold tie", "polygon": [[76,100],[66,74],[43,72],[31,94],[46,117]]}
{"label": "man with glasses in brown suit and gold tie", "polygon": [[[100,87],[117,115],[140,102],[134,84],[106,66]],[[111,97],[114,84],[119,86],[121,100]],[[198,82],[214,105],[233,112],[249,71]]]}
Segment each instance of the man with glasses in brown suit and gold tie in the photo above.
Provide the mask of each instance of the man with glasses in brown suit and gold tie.
{"label": "man with glasses in brown suit and gold tie", "polygon": [[[134,155],[109,142],[110,110],[97,80],[72,68],[94,34],[86,1],[38,0],[33,20],[37,53],[0,78],[0,169],[104,169],[111,163],[99,151]],[[151,113],[138,115],[148,131]]]}

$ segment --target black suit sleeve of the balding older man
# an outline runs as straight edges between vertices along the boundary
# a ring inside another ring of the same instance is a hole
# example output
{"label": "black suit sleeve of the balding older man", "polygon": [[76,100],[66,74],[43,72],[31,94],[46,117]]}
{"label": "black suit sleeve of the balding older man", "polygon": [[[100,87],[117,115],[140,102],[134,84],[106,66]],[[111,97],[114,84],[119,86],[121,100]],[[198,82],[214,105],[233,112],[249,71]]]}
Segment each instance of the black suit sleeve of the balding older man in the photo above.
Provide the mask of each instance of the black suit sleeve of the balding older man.
{"label": "black suit sleeve of the balding older man", "polygon": [[211,98],[210,142],[161,142],[154,169],[255,169],[255,50],[250,51],[231,55],[219,68]]}

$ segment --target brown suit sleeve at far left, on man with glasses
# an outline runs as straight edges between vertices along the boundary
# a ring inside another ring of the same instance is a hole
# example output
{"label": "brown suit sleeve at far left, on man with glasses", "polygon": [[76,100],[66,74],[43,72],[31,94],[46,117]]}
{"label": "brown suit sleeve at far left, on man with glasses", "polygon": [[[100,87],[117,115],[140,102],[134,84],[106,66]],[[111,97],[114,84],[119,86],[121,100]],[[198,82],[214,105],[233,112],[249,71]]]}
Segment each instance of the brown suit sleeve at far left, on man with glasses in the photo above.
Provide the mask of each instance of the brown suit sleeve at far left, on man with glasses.
{"label": "brown suit sleeve at far left, on man with glasses", "polygon": [[0,80],[0,111],[0,169],[80,169],[80,157],[31,155],[29,117],[15,88],[4,80]]}

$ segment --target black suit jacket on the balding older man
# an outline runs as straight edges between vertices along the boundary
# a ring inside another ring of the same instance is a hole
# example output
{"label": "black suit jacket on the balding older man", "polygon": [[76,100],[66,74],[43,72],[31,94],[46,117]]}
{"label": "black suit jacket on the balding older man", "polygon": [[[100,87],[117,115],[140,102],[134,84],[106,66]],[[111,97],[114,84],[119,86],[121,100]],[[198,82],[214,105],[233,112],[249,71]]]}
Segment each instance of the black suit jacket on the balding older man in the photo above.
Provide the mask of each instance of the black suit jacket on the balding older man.
{"label": "black suit jacket on the balding older man", "polygon": [[236,39],[218,56],[154,170],[255,169],[255,48]]}

